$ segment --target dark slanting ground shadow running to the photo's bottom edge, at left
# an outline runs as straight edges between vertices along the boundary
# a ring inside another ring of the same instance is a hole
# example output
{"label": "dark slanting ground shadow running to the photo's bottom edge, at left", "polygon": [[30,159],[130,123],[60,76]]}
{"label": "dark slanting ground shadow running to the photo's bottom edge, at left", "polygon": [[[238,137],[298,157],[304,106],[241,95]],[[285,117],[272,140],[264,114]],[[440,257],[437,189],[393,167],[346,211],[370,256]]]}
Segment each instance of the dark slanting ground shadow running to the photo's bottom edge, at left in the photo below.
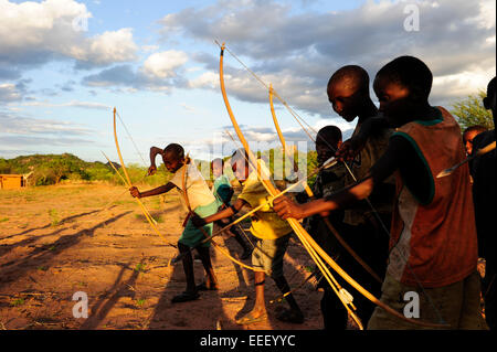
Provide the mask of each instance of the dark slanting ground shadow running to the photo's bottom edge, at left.
{"label": "dark slanting ground shadow running to the photo's bottom edge, at left", "polygon": [[[145,259],[140,260],[142,264]],[[96,329],[99,323],[107,317],[108,312],[114,308],[120,297],[123,296],[135,296],[135,292],[126,288],[126,286],[134,286],[138,276],[138,270],[133,270],[131,276],[126,282],[121,282],[124,273],[128,269],[130,263],[123,265],[113,287],[108,291],[114,292],[109,298],[102,297],[95,305],[91,307],[92,316],[85,320],[85,322],[80,327],[80,330],[92,330]],[[101,308],[102,307],[102,308]]]}

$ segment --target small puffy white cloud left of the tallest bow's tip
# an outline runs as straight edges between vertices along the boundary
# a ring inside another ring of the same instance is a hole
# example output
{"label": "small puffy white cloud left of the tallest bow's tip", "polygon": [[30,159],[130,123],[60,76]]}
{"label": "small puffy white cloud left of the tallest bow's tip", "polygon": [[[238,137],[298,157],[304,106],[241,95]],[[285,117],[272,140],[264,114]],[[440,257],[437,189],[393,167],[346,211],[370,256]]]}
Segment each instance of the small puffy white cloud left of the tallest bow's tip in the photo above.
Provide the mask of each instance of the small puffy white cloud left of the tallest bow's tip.
{"label": "small puffy white cloud left of the tallest bow's tip", "polygon": [[151,54],[144,62],[142,71],[150,77],[169,78],[176,76],[176,70],[187,63],[188,56],[182,51],[169,50]]}

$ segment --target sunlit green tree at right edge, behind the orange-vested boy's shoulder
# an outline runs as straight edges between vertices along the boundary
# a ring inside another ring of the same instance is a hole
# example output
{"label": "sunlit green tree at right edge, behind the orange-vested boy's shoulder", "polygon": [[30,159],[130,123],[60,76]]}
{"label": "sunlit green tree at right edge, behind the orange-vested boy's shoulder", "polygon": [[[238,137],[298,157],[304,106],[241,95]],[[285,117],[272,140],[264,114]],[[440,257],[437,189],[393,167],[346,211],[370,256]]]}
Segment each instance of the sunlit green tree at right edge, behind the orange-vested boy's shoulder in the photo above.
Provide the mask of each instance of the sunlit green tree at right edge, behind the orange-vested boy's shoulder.
{"label": "sunlit green tree at right edge, behind the orange-vested boy's shoulder", "polygon": [[452,106],[451,114],[456,117],[463,130],[475,125],[482,125],[488,129],[494,128],[491,111],[485,109],[482,103],[482,99],[486,96],[487,94],[484,90],[479,90]]}

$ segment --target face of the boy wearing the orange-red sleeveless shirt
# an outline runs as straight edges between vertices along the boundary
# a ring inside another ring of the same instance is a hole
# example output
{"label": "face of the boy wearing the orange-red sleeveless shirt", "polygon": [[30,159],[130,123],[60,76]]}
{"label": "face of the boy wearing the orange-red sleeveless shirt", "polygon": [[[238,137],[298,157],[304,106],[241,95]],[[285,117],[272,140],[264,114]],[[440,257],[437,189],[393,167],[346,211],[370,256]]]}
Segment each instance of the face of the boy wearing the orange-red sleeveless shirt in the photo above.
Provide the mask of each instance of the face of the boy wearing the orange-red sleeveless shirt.
{"label": "face of the boy wearing the orange-red sleeveless shirt", "polygon": [[389,124],[393,127],[406,124],[409,114],[415,108],[409,88],[381,76],[376,77],[373,88],[380,102],[379,111]]}

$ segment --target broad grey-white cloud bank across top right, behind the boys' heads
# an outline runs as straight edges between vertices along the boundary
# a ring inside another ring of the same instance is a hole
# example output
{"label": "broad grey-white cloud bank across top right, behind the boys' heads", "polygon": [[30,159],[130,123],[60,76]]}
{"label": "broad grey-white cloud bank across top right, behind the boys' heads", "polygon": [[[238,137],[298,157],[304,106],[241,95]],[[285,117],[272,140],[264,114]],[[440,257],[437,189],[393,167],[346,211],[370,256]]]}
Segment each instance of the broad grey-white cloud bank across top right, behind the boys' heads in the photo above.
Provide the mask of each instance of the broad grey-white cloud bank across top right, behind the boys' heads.
{"label": "broad grey-white cloud bank across top right, behind the boys' heads", "polygon": [[[162,35],[193,42],[226,41],[228,46],[294,107],[330,116],[326,84],[340,66],[363,66],[370,78],[401,55],[420,57],[435,84],[431,100],[446,104],[484,88],[495,75],[495,1],[416,1],[420,31],[403,29],[404,1],[366,1],[334,12],[294,11],[289,2],[220,0],[162,18]],[[191,88],[219,89],[218,57],[192,54],[205,72]],[[236,68],[233,68],[236,67]],[[267,92],[228,53],[226,90],[241,100],[267,103]],[[470,79],[474,77],[474,79]]]}

